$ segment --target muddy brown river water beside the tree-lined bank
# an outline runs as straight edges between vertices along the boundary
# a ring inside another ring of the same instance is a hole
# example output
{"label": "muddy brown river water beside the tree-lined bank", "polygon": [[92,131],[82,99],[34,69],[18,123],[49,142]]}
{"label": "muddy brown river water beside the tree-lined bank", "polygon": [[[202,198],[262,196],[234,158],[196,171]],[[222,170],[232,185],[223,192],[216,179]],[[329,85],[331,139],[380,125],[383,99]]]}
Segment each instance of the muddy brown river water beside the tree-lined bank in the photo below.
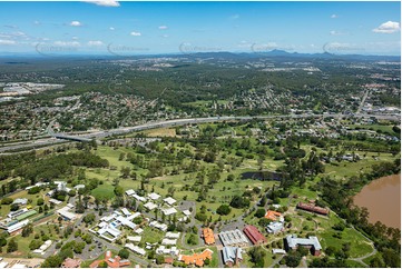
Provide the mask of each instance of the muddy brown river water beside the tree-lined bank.
{"label": "muddy brown river water beside the tree-lined bank", "polygon": [[401,229],[401,175],[373,180],[354,197],[354,203],[369,209],[371,223],[380,220]]}

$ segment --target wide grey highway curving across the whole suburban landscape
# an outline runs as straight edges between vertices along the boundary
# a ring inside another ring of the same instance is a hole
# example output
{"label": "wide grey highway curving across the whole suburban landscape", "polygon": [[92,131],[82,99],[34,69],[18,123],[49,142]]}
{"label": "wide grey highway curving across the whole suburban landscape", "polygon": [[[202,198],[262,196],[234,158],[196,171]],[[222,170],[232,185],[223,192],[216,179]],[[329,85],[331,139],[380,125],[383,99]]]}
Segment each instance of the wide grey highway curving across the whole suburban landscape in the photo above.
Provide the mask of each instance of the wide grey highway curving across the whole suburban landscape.
{"label": "wide grey highway curving across the whole suburban landscape", "polygon": [[[310,113],[302,113],[302,114],[275,114],[275,116],[244,116],[244,117],[234,117],[234,116],[223,116],[223,117],[208,117],[208,118],[188,118],[188,119],[175,119],[175,120],[165,120],[165,121],[151,121],[145,124],[134,126],[134,127],[120,127],[117,129],[110,129],[105,131],[96,131],[82,136],[71,136],[69,133],[49,133],[49,136],[55,136],[53,138],[48,139],[40,139],[40,140],[32,140],[27,141],[26,143],[14,143],[14,145],[7,145],[4,147],[0,147],[0,152],[7,151],[16,151],[16,150],[23,150],[24,148],[39,148],[46,147],[51,145],[57,145],[61,142],[66,142],[66,140],[60,139],[65,138],[68,140],[88,140],[88,139],[101,139],[110,136],[119,136],[135,131],[143,131],[148,129],[157,129],[157,128],[165,128],[165,127],[174,127],[174,126],[184,126],[189,123],[206,123],[206,122],[216,122],[216,121],[231,121],[231,120],[252,120],[252,119],[302,119],[302,118],[343,118],[343,117],[351,117],[351,114],[310,114]],[[380,120],[392,120],[392,121],[400,121],[401,118],[398,116],[386,116],[386,114],[354,114],[355,118],[376,118]],[[56,138],[57,137],[57,138]]]}

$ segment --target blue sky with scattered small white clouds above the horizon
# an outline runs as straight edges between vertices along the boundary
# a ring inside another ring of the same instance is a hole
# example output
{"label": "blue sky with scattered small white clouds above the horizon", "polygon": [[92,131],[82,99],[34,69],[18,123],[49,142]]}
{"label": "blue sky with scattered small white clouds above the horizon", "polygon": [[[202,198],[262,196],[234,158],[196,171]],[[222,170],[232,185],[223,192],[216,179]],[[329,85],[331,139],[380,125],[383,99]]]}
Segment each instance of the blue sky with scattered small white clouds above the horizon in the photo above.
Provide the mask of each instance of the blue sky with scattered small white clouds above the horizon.
{"label": "blue sky with scattered small white clouds above the horizon", "polygon": [[0,54],[401,53],[394,2],[0,1]]}

